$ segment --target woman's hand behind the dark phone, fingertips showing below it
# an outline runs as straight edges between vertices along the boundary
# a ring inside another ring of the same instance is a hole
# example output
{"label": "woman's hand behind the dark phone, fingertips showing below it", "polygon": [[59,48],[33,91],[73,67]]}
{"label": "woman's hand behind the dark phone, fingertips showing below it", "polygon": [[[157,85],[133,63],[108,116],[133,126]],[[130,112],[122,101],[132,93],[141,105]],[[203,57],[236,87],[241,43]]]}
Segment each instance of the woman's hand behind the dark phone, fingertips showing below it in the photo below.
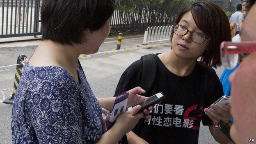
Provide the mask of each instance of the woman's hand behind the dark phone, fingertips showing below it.
{"label": "woman's hand behind the dark phone, fingertips showing below it", "polygon": [[[129,92],[127,107],[135,105],[136,103],[139,103],[140,101],[143,101],[146,98],[148,98],[146,96],[138,95],[138,94],[143,94],[143,93],[146,92],[141,87],[135,87],[135,88],[133,88],[133,89],[127,91],[127,92]],[[150,110],[153,110],[152,106],[149,107],[148,109],[143,110],[143,112],[144,112],[144,117],[143,118],[145,118],[145,119],[150,119],[151,118],[151,116],[149,115]]]}

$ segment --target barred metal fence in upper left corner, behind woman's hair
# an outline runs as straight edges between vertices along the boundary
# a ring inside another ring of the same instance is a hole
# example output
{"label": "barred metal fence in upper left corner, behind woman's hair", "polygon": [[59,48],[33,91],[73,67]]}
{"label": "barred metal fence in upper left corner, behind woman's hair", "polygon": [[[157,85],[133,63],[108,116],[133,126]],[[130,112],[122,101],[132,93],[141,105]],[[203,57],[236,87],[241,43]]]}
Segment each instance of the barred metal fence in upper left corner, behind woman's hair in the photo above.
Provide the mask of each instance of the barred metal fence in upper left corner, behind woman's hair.
{"label": "barred metal fence in upper left corner, behind woman's hair", "polygon": [[0,0],[0,38],[41,34],[41,0]]}

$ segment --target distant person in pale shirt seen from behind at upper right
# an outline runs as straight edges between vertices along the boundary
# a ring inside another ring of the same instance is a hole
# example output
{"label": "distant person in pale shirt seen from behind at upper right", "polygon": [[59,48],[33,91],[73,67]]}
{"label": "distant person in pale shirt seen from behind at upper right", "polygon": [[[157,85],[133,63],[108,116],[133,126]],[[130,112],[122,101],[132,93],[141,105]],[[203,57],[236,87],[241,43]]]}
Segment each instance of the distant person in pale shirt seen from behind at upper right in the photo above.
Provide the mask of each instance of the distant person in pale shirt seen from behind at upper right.
{"label": "distant person in pale shirt seen from behind at upper right", "polygon": [[237,32],[235,34],[238,34],[240,32],[240,27],[242,26],[242,21],[244,21],[244,16],[242,14],[242,5],[238,4],[236,6],[236,10],[234,14],[231,15],[229,19],[229,23],[235,23],[237,26]]}

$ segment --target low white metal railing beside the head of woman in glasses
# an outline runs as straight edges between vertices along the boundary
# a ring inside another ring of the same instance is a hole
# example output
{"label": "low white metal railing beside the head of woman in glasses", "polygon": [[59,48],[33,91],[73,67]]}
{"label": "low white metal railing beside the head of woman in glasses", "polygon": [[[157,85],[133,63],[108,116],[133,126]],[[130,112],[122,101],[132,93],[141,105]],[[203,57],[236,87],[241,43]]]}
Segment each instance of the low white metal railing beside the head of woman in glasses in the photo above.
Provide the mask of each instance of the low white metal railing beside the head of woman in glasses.
{"label": "low white metal railing beside the head of woman in glasses", "polygon": [[172,27],[172,25],[148,27],[145,31],[142,44],[169,40],[171,37]]}

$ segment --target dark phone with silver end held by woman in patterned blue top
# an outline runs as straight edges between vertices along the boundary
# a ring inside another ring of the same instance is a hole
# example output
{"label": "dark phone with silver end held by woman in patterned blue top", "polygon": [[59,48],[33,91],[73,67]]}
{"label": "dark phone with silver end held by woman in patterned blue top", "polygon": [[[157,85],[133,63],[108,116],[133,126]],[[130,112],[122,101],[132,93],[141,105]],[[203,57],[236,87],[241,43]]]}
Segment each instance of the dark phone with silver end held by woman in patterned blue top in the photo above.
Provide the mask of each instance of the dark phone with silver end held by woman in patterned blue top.
{"label": "dark phone with silver end held by woman in patterned blue top", "polygon": [[147,109],[150,106],[154,106],[156,103],[164,100],[164,98],[165,98],[165,96],[161,92],[159,92],[159,93],[145,99],[144,101],[141,101],[131,107],[128,107],[127,110],[130,110],[137,105],[141,105],[141,109],[139,110],[139,112],[142,112],[144,109]]}

